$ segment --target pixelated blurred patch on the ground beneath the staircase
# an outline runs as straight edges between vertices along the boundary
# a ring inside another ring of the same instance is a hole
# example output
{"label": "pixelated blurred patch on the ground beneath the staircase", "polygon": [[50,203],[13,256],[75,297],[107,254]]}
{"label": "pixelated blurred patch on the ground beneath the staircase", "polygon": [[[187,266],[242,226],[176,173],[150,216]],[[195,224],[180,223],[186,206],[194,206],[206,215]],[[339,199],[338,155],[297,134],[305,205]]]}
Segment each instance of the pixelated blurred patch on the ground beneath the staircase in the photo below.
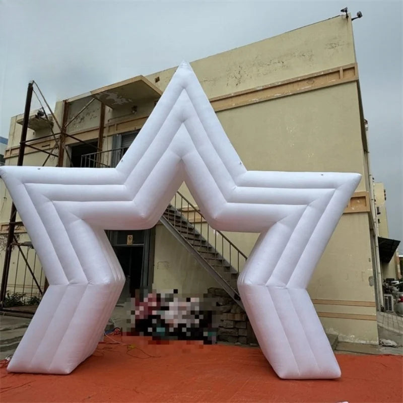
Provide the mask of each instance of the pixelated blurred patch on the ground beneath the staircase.
{"label": "pixelated blurred patch on the ground beneath the staircase", "polygon": [[177,290],[137,290],[126,302],[126,334],[154,340],[200,340],[216,343],[217,315],[207,296],[185,297]]}

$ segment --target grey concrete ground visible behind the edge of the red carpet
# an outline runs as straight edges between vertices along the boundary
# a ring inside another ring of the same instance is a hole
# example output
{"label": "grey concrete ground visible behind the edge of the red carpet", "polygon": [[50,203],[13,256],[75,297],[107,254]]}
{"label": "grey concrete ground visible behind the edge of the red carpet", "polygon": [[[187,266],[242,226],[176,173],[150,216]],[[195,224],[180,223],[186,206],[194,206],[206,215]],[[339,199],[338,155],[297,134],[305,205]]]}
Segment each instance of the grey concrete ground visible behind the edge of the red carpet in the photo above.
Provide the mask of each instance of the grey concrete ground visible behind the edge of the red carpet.
{"label": "grey concrete ground visible behind the edge of the red carpet", "polygon": [[[378,316],[380,338],[394,340],[398,346],[401,346],[403,338],[403,318],[397,315],[397,318],[391,318],[383,312]],[[109,327],[125,328],[126,308],[119,304],[115,307]],[[379,321],[381,323],[379,324]],[[22,339],[30,319],[16,316],[0,316],[0,360],[12,355]],[[113,322],[113,324],[112,324]],[[401,326],[401,327],[400,327]],[[327,335],[330,345],[335,353],[338,354],[356,354],[356,355],[403,355],[401,347],[382,347],[357,343],[339,342],[337,335]],[[400,340],[400,343],[398,341]]]}

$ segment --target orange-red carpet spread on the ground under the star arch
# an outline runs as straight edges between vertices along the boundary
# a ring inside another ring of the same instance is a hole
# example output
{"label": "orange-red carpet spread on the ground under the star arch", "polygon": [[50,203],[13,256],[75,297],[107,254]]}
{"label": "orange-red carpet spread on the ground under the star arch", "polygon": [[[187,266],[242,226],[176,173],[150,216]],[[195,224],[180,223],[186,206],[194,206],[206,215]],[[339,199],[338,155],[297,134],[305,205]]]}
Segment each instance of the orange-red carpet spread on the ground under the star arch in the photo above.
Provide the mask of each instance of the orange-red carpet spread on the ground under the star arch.
{"label": "orange-red carpet spread on the ground under the star arch", "polygon": [[279,379],[257,348],[116,337],[70,375],[8,373],[2,402],[401,402],[402,357],[338,355],[342,378]]}

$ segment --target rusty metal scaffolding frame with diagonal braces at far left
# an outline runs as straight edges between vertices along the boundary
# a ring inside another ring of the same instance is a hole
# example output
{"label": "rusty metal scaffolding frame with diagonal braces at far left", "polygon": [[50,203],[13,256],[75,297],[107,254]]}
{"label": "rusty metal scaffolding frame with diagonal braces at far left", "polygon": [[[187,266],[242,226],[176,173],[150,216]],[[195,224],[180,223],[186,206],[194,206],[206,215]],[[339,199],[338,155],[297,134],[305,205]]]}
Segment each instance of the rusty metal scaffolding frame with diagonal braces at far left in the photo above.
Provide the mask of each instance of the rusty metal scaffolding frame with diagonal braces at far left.
{"label": "rusty metal scaffolding frame with diagonal braces at far left", "polygon": [[[43,106],[40,97],[34,90],[34,85],[36,89],[38,90],[42,100],[44,101],[47,109],[49,110],[53,121],[56,123],[59,131],[54,132],[53,130],[53,124],[50,121],[48,114],[46,113],[45,107]],[[31,103],[32,103],[32,95],[35,94],[37,97],[39,104],[41,105],[40,110],[42,110],[43,115],[45,116],[45,119],[49,122],[49,127],[51,130],[51,134],[48,136],[43,136],[41,139],[46,139],[46,138],[52,138],[54,140],[54,145],[50,151],[48,150],[42,150],[38,147],[35,147],[35,145],[31,144],[31,142],[37,141],[37,139],[30,139],[27,140],[27,132],[28,132],[28,124],[29,124],[29,118],[30,118],[30,110],[31,110]],[[63,166],[63,161],[64,161],[64,152],[66,153],[66,156],[68,157],[68,160],[70,161],[70,164],[72,162],[71,155],[68,152],[68,149],[66,148],[65,145],[65,139],[70,138],[73,140],[76,140],[77,143],[85,144],[87,146],[95,148],[95,151],[101,152],[102,147],[103,147],[103,137],[104,137],[104,125],[105,125],[105,104],[98,100],[101,104],[101,110],[100,110],[100,119],[99,119],[99,127],[98,127],[98,141],[97,141],[97,146],[94,146],[94,144],[91,144],[89,142],[86,142],[84,140],[79,139],[78,137],[71,135],[67,132],[68,126],[75,120],[81,113],[83,113],[94,101],[96,98],[92,98],[89,102],[82,107],[79,112],[77,112],[70,120],[68,121],[68,116],[69,116],[69,106],[71,102],[74,101],[68,101],[68,100],[63,100],[63,108],[62,108],[62,121],[61,124],[58,122],[56,116],[53,113],[53,110],[50,108],[48,102],[46,101],[46,98],[44,97],[42,91],[40,90],[39,86],[35,81],[30,81],[28,83],[28,88],[27,88],[27,95],[25,99],[25,109],[24,109],[24,118],[23,118],[23,123],[22,123],[22,131],[21,131],[21,139],[20,139],[20,146],[18,150],[18,156],[17,156],[17,166],[22,166],[24,163],[24,156],[25,156],[25,149],[26,147],[31,148],[33,150],[36,150],[38,152],[42,152],[46,155],[46,159],[43,162],[42,166],[44,166],[47,161],[49,160],[50,157],[57,157],[57,164],[56,167],[62,167]],[[57,150],[57,151],[56,151]],[[57,154],[56,154],[57,153]],[[100,166],[101,161],[96,162],[96,166]],[[0,286],[0,313],[2,314],[10,314],[10,315],[17,315],[17,316],[26,316],[27,312],[23,310],[16,310],[16,309],[8,309],[6,308],[5,305],[5,300],[6,300],[6,294],[7,294],[7,285],[8,285],[8,280],[9,280],[9,274],[10,274],[10,263],[11,263],[11,256],[12,256],[12,250],[13,246],[17,246],[19,250],[19,255],[22,255],[22,258],[26,264],[26,268],[28,268],[29,273],[31,274],[33,278],[33,282],[35,283],[39,294],[42,296],[43,293],[46,291],[46,288],[48,287],[48,283],[45,278],[45,286],[44,289],[41,289],[40,282],[38,283],[38,280],[35,277],[35,271],[32,270],[31,265],[29,264],[28,261],[28,256],[27,254],[24,253],[22,246],[27,246],[26,243],[20,243],[15,235],[15,230],[17,226],[23,226],[22,221],[16,221],[17,217],[17,209],[12,203],[11,206],[11,213],[10,213],[10,219],[9,219],[9,224],[8,224],[8,233],[7,233],[7,244],[6,244],[6,249],[5,249],[5,258],[4,258],[4,265],[3,265],[3,273],[2,273],[2,283]],[[18,267],[17,269],[18,270]],[[25,279],[24,279],[25,281]],[[30,314],[30,316],[32,313]]]}

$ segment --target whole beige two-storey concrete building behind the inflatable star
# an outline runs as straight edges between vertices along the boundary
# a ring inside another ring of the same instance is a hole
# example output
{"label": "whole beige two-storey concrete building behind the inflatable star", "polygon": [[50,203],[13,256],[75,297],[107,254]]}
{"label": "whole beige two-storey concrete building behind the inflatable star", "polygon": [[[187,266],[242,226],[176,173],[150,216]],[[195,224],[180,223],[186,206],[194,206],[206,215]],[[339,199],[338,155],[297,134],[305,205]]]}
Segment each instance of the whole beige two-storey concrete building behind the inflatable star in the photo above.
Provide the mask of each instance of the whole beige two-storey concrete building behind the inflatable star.
{"label": "whole beige two-storey concrete building behind the inflatable star", "polygon": [[[363,175],[317,265],[308,292],[326,332],[338,334],[342,341],[377,344],[376,309],[382,301],[379,284],[383,269],[374,226],[374,191],[351,19],[338,16],[191,65],[247,169]],[[35,149],[26,148],[24,165],[40,166],[46,157],[48,166],[115,165],[174,71],[172,68],[135,77],[58,102],[51,123],[33,112],[27,144]],[[6,164],[16,164],[21,122],[22,115],[11,119]],[[5,198],[0,228],[5,238],[11,199],[2,189]],[[214,231],[200,216],[185,185],[180,192],[186,199],[178,195],[173,201],[177,211],[225,262],[235,271],[242,270],[244,259],[238,250],[249,255],[258,234]],[[20,242],[29,241],[23,224],[17,234]],[[128,289],[152,285],[201,294],[209,287],[224,287],[212,271],[205,270],[200,249],[194,252],[194,243],[193,250],[189,249],[189,242],[183,242],[179,235],[162,224],[149,231],[111,234],[122,267],[130,277]],[[38,258],[34,250],[26,248],[30,250],[27,260],[43,286]],[[4,250],[1,256],[4,259]],[[10,293],[28,290],[36,295],[32,276],[26,268],[24,271],[26,262],[21,258],[18,261],[18,257],[15,248],[7,289]],[[226,284],[235,288],[231,281]]]}

